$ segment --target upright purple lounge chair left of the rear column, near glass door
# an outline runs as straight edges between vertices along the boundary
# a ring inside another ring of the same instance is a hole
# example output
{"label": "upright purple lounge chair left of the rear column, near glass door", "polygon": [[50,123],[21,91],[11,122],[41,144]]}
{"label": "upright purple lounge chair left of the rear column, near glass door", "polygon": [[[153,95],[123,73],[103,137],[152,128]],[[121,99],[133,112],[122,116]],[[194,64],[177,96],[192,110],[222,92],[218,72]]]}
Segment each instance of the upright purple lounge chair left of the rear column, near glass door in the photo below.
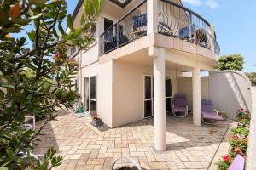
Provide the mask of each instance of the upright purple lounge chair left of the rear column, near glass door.
{"label": "upright purple lounge chair left of the rear column, near glass door", "polygon": [[[184,113],[184,115],[177,115],[177,113]],[[172,105],[172,114],[177,117],[185,117],[188,115],[188,105],[185,95],[175,94]]]}

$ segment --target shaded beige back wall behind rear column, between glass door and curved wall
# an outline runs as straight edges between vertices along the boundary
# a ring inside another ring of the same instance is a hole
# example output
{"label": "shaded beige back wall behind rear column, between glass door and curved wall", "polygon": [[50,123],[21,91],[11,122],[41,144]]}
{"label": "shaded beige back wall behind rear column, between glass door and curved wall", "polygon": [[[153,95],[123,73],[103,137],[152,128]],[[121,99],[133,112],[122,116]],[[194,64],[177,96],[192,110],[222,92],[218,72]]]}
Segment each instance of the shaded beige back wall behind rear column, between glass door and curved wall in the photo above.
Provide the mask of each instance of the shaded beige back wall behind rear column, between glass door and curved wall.
{"label": "shaded beige back wall behind rear column, between glass door and curved wall", "polygon": [[[209,99],[208,77],[201,77],[201,99]],[[192,77],[177,78],[177,94],[185,94],[189,111],[192,111]]]}

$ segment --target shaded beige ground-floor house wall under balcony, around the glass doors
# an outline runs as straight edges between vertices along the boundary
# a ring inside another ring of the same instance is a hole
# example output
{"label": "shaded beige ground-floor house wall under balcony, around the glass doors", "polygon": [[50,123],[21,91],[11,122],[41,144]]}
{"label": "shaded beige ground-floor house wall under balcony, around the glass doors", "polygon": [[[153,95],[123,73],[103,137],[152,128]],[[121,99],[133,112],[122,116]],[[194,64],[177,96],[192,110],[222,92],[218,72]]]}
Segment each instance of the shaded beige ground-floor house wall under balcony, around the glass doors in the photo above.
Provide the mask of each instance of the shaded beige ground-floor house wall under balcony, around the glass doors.
{"label": "shaded beige ground-floor house wall under balcony, around the glass doors", "polygon": [[[144,75],[153,75],[153,65],[136,65],[124,61],[114,61],[113,127],[136,122],[144,118]],[[166,77],[172,77],[172,94],[176,94],[176,71],[166,69]]]}

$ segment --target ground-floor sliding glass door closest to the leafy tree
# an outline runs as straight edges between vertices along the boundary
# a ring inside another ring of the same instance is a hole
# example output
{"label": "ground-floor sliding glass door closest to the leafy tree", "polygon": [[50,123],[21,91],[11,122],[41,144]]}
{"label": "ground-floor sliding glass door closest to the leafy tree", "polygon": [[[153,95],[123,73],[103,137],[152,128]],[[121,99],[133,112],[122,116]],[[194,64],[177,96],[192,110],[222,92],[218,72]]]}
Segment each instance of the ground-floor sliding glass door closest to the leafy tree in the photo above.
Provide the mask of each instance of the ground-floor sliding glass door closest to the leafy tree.
{"label": "ground-floor sliding glass door closest to the leafy tree", "polygon": [[84,111],[96,113],[96,77],[84,78]]}

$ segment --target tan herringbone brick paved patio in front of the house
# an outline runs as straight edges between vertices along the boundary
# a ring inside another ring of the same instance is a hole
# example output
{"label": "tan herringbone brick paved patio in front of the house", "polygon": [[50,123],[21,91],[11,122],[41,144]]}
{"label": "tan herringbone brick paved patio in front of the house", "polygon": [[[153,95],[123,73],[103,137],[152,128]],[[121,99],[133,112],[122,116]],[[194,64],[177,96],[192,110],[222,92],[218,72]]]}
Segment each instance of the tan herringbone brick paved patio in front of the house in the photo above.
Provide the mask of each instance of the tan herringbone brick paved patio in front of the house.
{"label": "tan herringbone brick paved patio in front of the house", "polygon": [[[90,117],[77,118],[61,111],[58,121],[44,128],[44,136],[34,153],[43,154],[54,145],[64,161],[56,169],[111,169],[121,156],[131,157],[148,169],[207,169],[224,138],[229,122],[218,126],[195,127],[192,116],[166,116],[167,150],[156,152],[154,118],[123,127],[98,131],[90,125]],[[118,161],[117,166],[128,161]]]}

